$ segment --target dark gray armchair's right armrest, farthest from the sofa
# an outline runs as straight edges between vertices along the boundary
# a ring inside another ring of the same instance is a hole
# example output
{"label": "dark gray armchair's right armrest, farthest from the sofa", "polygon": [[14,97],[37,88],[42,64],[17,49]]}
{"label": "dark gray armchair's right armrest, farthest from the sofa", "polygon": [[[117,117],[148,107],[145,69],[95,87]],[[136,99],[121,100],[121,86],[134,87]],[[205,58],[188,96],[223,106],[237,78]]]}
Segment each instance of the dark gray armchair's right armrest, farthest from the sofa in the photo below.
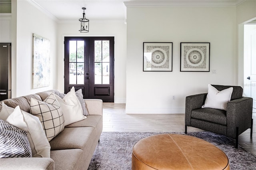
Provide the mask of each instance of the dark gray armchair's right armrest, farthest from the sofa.
{"label": "dark gray armchair's right armrest, farthest from the sofa", "polygon": [[251,127],[252,98],[242,97],[227,104],[227,134],[228,137],[236,137],[236,127],[239,134]]}

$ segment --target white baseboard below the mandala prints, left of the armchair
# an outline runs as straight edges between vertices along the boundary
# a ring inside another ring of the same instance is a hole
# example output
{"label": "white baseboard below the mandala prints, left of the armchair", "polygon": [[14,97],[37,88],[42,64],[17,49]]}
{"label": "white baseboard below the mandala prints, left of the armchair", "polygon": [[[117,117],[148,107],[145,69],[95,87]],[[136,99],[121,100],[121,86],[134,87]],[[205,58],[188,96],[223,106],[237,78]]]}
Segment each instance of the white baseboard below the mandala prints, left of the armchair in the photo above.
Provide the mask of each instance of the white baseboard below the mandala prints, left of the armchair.
{"label": "white baseboard below the mandala prints, left of the armchair", "polygon": [[184,114],[185,107],[174,107],[170,109],[153,109],[153,108],[127,108],[126,114]]}

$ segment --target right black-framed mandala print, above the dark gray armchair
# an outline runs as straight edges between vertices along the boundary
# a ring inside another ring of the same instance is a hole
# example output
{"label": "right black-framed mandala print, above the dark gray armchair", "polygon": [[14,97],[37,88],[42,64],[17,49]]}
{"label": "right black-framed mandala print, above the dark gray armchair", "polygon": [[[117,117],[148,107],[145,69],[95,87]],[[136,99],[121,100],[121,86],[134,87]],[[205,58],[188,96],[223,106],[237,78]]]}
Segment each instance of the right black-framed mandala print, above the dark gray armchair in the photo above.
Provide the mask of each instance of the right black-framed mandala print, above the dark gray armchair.
{"label": "right black-framed mandala print, above the dark gray armchair", "polygon": [[180,43],[180,71],[210,71],[210,43]]}

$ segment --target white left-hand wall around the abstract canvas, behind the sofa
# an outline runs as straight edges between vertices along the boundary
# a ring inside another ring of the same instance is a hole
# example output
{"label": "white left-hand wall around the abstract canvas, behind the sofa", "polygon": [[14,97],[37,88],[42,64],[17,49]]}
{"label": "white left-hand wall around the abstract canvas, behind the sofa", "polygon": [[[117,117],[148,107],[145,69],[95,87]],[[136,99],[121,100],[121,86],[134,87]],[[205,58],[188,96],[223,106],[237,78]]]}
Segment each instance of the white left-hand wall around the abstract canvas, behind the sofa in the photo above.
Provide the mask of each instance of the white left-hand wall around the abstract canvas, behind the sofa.
{"label": "white left-hand wall around the abstract canvas, behind the sofa", "polygon": [[[12,79],[16,80],[16,89],[12,89],[12,97],[19,97],[40,91],[57,88],[57,50],[56,34],[57,24],[54,20],[43,14],[35,6],[26,0],[17,3],[17,32],[16,54],[12,54],[12,62],[16,69],[12,69]],[[38,34],[50,40],[51,75],[50,86],[32,89],[32,35]],[[15,36],[15,35],[14,35]],[[14,60],[14,61],[13,61]],[[15,83],[15,80],[13,83]],[[14,86],[12,86],[14,87]],[[15,87],[14,87],[15,88]]]}

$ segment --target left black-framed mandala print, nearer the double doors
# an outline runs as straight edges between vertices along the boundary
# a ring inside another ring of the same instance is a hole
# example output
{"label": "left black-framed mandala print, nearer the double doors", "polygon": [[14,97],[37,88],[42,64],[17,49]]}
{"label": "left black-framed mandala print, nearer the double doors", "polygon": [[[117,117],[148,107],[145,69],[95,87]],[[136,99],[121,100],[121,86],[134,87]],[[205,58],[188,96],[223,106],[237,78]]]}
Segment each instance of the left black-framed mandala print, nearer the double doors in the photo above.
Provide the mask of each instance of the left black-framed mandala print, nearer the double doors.
{"label": "left black-framed mandala print, nearer the double doors", "polygon": [[172,71],[172,42],[144,42],[143,71]]}

